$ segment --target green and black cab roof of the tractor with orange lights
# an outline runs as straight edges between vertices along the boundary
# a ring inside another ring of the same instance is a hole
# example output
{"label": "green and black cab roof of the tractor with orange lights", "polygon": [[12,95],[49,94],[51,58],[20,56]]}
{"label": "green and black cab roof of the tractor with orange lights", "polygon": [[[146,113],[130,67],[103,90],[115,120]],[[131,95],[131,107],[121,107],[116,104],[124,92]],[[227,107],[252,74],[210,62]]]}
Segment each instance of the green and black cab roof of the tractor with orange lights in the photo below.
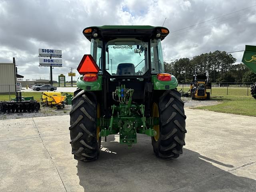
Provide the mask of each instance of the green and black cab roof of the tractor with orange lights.
{"label": "green and black cab roof of the tractor with orange lights", "polygon": [[[156,34],[160,33],[160,37]],[[83,30],[84,36],[91,40],[92,38],[160,38],[163,40],[169,30],[165,27],[150,25],[103,25],[90,26]]]}

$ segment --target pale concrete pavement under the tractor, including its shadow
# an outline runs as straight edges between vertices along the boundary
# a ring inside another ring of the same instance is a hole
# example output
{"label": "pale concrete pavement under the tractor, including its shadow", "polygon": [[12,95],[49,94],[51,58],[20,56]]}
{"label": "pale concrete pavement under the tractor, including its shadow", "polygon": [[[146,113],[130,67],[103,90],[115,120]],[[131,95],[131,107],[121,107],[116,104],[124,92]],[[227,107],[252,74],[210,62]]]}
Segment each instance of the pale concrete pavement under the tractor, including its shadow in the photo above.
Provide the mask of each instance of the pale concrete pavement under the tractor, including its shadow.
{"label": "pale concrete pavement under the tractor, including its shadow", "polygon": [[186,146],[175,160],[154,156],[150,137],[132,149],[119,136],[99,160],[78,162],[69,116],[0,120],[0,191],[255,192],[255,117],[186,108]]}

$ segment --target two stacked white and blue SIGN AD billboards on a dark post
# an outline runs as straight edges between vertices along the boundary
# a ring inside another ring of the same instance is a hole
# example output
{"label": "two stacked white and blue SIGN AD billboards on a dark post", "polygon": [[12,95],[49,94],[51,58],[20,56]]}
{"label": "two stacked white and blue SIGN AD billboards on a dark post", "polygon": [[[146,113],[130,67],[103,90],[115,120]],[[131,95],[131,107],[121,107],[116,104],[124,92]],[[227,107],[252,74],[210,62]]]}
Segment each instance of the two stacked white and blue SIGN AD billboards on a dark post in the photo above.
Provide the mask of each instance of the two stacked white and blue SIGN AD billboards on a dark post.
{"label": "two stacked white and blue SIGN AD billboards on a dark post", "polygon": [[[50,57],[50,59],[40,58],[39,66],[40,67],[50,67],[50,84],[52,85],[52,66],[54,67],[62,67],[61,59],[54,58],[62,58],[62,50],[55,49],[39,49],[38,57]],[[53,59],[52,59],[53,58]],[[66,86],[66,84],[64,84]]]}

